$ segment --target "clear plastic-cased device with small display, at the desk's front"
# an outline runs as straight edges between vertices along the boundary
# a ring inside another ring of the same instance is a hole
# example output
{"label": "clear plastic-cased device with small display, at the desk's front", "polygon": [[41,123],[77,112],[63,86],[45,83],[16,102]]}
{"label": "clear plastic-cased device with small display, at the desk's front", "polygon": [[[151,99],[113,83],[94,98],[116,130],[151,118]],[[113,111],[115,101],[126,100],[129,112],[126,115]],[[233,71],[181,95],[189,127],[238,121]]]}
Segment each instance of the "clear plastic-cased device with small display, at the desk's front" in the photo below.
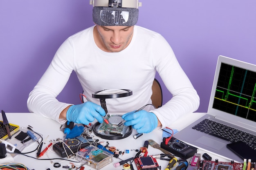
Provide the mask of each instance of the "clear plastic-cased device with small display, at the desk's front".
{"label": "clear plastic-cased device with small display, at the desk's front", "polygon": [[99,170],[113,161],[113,155],[96,146],[89,145],[76,153],[76,159]]}

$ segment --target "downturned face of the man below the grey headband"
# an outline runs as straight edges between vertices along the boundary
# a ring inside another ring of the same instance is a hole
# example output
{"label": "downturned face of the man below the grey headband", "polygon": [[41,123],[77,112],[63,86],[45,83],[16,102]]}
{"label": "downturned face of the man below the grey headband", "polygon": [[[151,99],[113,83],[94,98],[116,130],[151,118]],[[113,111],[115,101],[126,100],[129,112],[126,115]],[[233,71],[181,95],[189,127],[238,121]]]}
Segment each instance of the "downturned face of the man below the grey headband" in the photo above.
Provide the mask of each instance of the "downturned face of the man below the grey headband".
{"label": "downturned face of the man below the grey headband", "polygon": [[94,28],[94,40],[106,52],[120,52],[132,40],[134,26],[99,26]]}

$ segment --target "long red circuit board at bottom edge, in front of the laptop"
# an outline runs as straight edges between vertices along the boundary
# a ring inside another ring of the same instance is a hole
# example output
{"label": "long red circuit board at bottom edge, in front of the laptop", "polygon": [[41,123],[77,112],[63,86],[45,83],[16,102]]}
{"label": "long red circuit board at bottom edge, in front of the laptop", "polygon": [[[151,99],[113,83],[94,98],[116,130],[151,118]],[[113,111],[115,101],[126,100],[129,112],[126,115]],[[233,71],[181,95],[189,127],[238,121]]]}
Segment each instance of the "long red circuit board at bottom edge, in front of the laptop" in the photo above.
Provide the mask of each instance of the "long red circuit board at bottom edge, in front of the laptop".
{"label": "long red circuit board at bottom edge, in front of the laptop", "polygon": [[201,160],[198,165],[200,170],[242,170],[243,163],[235,163],[235,162],[219,162],[219,161],[206,161]]}

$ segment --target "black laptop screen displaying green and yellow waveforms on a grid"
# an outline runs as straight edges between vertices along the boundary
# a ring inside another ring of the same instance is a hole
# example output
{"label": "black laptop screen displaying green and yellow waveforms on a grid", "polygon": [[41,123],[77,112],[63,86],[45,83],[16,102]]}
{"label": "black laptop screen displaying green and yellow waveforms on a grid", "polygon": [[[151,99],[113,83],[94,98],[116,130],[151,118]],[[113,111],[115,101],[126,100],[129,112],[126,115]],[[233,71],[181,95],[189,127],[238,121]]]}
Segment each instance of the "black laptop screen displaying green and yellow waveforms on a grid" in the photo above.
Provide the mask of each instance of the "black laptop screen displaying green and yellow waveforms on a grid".
{"label": "black laptop screen displaying green and yellow waveforms on a grid", "polygon": [[235,63],[220,62],[212,108],[256,122],[256,71],[229,60]]}

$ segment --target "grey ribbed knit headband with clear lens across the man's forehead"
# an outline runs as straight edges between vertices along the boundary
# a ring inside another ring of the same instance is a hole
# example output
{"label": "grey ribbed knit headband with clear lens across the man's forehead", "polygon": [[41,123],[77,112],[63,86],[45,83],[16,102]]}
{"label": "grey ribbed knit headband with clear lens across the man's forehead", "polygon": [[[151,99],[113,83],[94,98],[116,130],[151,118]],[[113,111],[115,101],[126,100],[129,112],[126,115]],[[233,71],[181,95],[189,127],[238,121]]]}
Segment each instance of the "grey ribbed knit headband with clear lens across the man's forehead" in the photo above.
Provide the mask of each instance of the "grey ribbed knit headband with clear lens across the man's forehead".
{"label": "grey ribbed knit headband with clear lens across the man's forehead", "polygon": [[92,20],[100,26],[133,26],[137,23],[139,9],[93,7]]}

